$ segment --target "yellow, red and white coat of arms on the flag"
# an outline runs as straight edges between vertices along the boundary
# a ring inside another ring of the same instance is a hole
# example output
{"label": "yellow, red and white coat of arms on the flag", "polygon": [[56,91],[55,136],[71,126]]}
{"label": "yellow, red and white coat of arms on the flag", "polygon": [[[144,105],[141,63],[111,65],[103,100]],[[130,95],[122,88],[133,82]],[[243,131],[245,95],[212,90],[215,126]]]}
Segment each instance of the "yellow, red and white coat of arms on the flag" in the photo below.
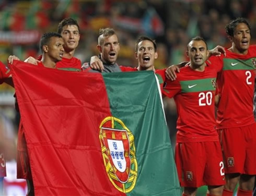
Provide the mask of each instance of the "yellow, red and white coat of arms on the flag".
{"label": "yellow, red and white coat of arms on the flag", "polygon": [[106,117],[100,124],[101,152],[108,177],[115,188],[127,193],[137,179],[134,136],[122,120]]}

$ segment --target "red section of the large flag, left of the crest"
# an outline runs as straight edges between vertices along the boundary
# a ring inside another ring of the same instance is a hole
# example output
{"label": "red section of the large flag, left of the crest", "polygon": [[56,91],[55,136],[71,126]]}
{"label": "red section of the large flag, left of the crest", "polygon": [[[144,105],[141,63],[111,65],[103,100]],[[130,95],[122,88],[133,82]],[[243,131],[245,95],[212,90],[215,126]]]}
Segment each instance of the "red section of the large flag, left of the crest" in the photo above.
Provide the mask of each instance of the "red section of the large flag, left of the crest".
{"label": "red section of the large flag, left of the crest", "polygon": [[[102,160],[97,125],[111,116],[102,75],[25,65],[16,60],[11,67],[35,194],[125,195],[113,187]],[[63,77],[56,77],[60,72]],[[21,81],[31,88],[25,89]],[[82,90],[91,96],[85,97]],[[62,98],[55,99],[56,95]]]}

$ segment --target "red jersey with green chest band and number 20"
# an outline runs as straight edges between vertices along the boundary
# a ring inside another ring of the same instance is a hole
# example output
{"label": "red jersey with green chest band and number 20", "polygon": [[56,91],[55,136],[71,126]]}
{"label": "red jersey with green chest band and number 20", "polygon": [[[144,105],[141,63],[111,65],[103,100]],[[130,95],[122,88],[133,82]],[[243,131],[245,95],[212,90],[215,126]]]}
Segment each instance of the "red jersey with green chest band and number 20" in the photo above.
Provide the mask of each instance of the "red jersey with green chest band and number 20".
{"label": "red jersey with green chest band and number 20", "polygon": [[215,130],[214,96],[217,70],[183,67],[174,81],[166,80],[163,94],[177,106],[177,142],[218,141]]}

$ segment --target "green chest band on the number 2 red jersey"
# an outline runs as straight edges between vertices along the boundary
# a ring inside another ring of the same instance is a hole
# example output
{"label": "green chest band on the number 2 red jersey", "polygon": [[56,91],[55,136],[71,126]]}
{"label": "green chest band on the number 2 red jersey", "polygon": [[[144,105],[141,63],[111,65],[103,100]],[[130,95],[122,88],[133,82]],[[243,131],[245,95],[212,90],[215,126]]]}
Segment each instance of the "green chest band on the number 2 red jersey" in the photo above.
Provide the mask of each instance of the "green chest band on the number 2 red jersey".
{"label": "green chest band on the number 2 red jersey", "polygon": [[[255,69],[252,63],[252,59],[234,59],[234,58],[224,58],[224,67],[223,70],[248,70]],[[254,58],[255,59],[255,58]]]}

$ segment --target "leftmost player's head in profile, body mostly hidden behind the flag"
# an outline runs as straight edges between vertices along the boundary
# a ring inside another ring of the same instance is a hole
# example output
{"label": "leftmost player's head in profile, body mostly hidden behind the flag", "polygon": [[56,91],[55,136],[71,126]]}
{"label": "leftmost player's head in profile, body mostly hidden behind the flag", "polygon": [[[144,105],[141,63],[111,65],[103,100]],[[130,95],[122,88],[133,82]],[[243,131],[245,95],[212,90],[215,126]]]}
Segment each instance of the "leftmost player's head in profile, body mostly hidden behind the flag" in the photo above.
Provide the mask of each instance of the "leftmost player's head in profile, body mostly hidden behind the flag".
{"label": "leftmost player's head in profile, body mostly hidden behind the flag", "polygon": [[[38,66],[56,68],[56,64],[62,60],[64,55],[64,41],[61,34],[55,32],[43,34],[40,40],[40,49],[42,51],[42,59],[41,62],[37,62]],[[17,178],[26,179],[28,195],[34,195],[32,174],[24,127],[22,126],[22,118],[20,120],[18,131],[17,152]]]}

